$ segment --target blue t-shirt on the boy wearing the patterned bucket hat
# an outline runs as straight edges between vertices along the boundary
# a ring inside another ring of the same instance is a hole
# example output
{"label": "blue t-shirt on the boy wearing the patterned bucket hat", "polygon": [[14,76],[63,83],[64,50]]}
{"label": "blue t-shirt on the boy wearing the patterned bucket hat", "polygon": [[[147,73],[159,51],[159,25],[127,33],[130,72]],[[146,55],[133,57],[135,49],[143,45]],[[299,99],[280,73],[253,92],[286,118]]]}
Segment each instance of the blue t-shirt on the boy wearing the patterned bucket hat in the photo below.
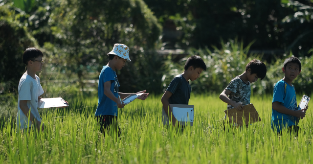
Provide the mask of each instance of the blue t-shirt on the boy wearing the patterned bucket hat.
{"label": "blue t-shirt on the boy wearing the patterned bucket hat", "polygon": [[115,97],[118,97],[118,87],[120,86],[117,80],[117,76],[114,70],[109,66],[103,66],[103,69],[99,75],[98,83],[98,107],[95,116],[111,115],[117,117],[116,103],[104,94],[104,83],[111,81],[110,91]]}

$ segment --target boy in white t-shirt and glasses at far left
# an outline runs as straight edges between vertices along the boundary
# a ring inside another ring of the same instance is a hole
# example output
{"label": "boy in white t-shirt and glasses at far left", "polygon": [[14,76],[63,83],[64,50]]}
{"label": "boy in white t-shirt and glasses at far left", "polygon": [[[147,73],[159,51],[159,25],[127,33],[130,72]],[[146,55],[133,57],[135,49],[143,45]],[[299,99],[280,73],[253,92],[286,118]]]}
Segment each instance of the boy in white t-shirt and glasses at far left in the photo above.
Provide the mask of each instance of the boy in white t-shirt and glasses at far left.
{"label": "boy in white t-shirt and glasses at far left", "polygon": [[[19,83],[19,101],[17,114],[17,127],[24,129],[28,126],[28,117],[30,117],[29,127],[35,126],[39,131],[44,130],[45,125],[41,121],[38,113],[38,100],[40,95],[44,94],[43,87],[40,85],[40,79],[36,75],[37,71],[43,68],[44,54],[37,48],[29,47],[23,53],[23,63],[27,70],[22,75]],[[29,112],[30,111],[30,112]]]}

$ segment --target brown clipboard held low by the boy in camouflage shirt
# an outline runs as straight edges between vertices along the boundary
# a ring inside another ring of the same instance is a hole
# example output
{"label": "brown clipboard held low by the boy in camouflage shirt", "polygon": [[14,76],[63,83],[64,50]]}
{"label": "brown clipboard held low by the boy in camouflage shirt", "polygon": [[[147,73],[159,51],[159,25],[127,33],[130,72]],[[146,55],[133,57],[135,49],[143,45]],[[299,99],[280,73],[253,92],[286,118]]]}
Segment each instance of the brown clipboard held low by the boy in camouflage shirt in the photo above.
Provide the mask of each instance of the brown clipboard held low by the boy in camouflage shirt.
{"label": "brown clipboard held low by the boy in camouflage shirt", "polygon": [[[224,111],[227,115],[229,122],[236,123],[237,125],[243,126],[250,123],[261,121],[258,111],[254,108],[253,104],[244,105],[244,109],[239,111],[235,108]],[[245,122],[243,122],[243,117]]]}

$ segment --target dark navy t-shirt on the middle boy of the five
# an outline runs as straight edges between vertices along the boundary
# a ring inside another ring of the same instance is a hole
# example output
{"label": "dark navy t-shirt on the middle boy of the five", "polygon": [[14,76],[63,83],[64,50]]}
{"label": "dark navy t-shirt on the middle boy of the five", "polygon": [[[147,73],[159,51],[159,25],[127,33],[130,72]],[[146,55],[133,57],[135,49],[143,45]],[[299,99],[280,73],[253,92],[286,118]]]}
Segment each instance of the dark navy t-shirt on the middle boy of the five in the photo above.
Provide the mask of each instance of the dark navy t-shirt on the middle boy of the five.
{"label": "dark navy t-shirt on the middle boy of the five", "polygon": [[166,91],[172,93],[172,96],[168,100],[170,104],[188,105],[191,87],[189,82],[181,74],[174,77]]}

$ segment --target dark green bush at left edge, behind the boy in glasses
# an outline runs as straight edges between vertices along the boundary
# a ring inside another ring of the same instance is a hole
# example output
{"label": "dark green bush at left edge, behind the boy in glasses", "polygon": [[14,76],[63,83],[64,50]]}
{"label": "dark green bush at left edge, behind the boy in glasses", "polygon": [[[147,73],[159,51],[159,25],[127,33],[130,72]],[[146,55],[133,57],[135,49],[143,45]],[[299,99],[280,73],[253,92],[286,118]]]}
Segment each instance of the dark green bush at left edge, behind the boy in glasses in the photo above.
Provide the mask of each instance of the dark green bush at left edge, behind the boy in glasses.
{"label": "dark green bush at left edge, behind the boy in glasses", "polygon": [[12,13],[10,6],[0,6],[0,82],[6,82],[0,84],[0,88],[16,88],[18,81],[15,79],[21,78],[25,70],[22,54],[27,47],[37,46],[36,40],[20,23],[20,17],[22,15]]}

